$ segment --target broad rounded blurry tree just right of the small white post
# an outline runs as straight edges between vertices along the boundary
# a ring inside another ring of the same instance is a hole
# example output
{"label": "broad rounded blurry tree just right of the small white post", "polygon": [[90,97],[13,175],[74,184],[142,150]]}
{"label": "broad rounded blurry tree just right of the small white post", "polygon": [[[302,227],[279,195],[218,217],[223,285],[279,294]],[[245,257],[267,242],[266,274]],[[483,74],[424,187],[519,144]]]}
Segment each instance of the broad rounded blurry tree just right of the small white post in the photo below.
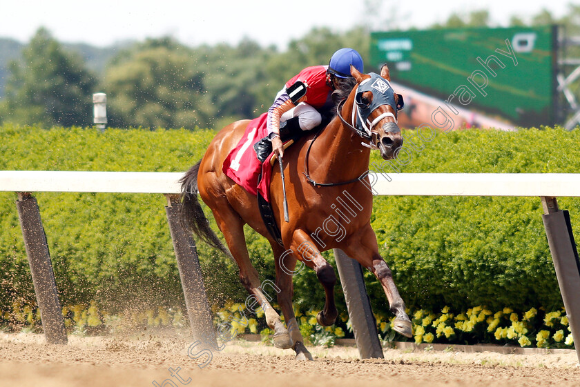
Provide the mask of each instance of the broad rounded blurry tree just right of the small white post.
{"label": "broad rounded blurry tree just right of the small white post", "polygon": [[106,70],[111,123],[147,128],[195,128],[213,115],[204,74],[189,48],[148,39],[113,59]]}

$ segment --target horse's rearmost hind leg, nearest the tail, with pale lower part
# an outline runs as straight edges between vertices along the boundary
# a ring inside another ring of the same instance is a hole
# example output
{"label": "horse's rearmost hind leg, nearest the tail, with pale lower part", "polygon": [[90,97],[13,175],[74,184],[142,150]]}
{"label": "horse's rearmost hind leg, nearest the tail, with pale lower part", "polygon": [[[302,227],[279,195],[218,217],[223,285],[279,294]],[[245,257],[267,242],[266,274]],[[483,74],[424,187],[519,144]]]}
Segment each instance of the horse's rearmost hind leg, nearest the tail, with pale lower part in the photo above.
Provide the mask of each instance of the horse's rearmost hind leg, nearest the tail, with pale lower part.
{"label": "horse's rearmost hind leg, nearest the tail, with pale lower part", "polygon": [[274,346],[278,348],[291,348],[292,341],[284,324],[280,320],[280,315],[272,308],[260,285],[258,272],[252,266],[248,248],[246,247],[246,237],[244,236],[244,221],[240,218],[229,203],[222,203],[221,206],[211,206],[213,217],[218,223],[218,227],[226,238],[231,255],[240,268],[240,281],[246,290],[253,295],[258,304],[264,310],[266,323],[274,330]]}

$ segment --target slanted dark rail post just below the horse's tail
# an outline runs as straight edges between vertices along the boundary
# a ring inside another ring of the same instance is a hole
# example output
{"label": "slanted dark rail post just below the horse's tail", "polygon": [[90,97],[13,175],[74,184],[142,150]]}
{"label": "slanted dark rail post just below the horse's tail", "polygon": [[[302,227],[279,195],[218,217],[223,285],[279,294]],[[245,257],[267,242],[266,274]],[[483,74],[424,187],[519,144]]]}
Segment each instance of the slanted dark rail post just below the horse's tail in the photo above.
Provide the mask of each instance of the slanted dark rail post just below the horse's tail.
{"label": "slanted dark rail post just below the horse's tail", "polygon": [[204,279],[200,261],[197,258],[195,241],[189,232],[183,229],[180,222],[181,201],[179,195],[166,195],[167,220],[173,239],[173,249],[177,258],[177,268],[185,297],[185,306],[191,333],[195,341],[217,348],[215,330],[211,323],[211,313],[204,288]]}

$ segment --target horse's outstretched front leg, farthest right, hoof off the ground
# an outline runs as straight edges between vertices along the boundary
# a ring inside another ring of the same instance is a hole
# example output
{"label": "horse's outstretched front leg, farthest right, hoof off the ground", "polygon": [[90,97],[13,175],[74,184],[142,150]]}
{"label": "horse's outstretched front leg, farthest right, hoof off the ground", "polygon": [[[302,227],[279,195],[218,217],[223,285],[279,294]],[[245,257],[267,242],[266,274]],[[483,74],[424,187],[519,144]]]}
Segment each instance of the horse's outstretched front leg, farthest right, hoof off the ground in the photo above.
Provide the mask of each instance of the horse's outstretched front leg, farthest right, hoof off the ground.
{"label": "horse's outstretched front leg, farthest right, hoof off the ground", "polygon": [[378,254],[376,235],[370,224],[351,238],[351,243],[342,248],[351,258],[356,259],[380,281],[389,301],[389,310],[395,315],[394,327],[396,332],[405,337],[412,337],[412,324],[407,312],[405,312],[405,301],[400,297],[398,289],[393,279],[393,272]]}

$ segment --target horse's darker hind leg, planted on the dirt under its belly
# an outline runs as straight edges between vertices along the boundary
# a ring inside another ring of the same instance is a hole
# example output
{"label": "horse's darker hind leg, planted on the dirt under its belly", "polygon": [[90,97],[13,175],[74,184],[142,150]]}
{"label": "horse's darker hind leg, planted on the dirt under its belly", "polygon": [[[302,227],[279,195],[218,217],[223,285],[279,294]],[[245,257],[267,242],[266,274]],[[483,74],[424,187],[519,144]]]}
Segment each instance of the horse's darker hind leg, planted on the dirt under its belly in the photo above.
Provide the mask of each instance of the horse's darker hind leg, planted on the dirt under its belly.
{"label": "horse's darker hind leg, planted on the dirt under its belly", "polygon": [[280,289],[278,292],[278,304],[284,313],[288,333],[292,339],[292,348],[296,352],[297,360],[312,360],[312,355],[304,345],[304,337],[298,328],[298,321],[292,308],[292,297],[294,286],[292,277],[296,268],[296,257],[293,254],[284,255],[284,249],[276,242],[270,243],[274,252],[276,262],[276,285]]}

